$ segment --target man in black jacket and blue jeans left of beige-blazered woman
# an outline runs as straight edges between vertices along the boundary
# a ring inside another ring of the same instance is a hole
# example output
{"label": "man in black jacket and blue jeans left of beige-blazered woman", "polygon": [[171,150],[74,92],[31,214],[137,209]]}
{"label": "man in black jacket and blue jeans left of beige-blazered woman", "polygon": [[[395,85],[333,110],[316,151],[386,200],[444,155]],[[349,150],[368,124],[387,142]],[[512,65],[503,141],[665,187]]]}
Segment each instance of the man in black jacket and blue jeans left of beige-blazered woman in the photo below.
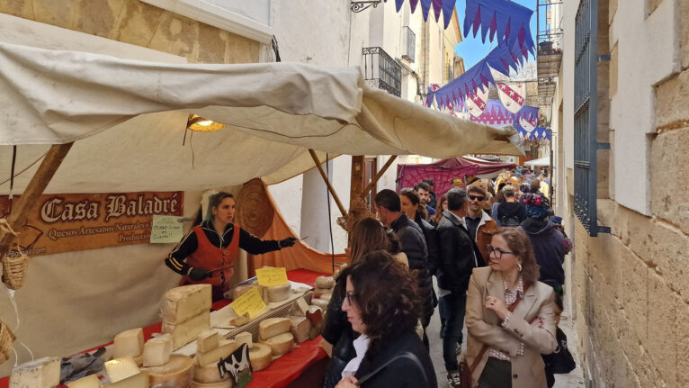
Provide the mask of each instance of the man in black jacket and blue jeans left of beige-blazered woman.
{"label": "man in black jacket and blue jeans left of beige-blazered woman", "polygon": [[447,290],[443,296],[447,320],[443,337],[443,359],[450,387],[460,386],[457,346],[461,344],[461,328],[464,325],[464,312],[467,306],[467,289],[471,270],[485,266],[474,239],[464,224],[467,215],[467,193],[452,189],[447,193],[447,209],[438,223],[440,240],[441,275],[438,288]]}

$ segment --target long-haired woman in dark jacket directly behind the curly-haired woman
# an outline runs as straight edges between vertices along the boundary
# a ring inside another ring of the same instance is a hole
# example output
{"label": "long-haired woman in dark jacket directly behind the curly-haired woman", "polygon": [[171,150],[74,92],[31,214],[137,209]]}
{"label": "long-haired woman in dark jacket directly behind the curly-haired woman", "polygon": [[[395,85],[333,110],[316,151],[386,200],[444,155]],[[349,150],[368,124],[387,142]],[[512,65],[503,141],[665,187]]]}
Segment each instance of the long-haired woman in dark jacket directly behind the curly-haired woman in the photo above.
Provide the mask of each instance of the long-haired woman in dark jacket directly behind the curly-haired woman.
{"label": "long-haired woman in dark jacket directly behind the curly-haired woman", "polygon": [[[350,265],[359,262],[367,253],[380,249],[394,255],[403,266],[409,266],[407,257],[399,252],[397,238],[392,233],[386,232],[380,221],[367,217],[356,222],[352,231],[352,248],[349,249]],[[345,279],[351,268],[352,266],[345,267],[337,277],[333,295],[327,304],[323,339],[327,342],[324,347],[332,347],[332,352],[330,363],[327,365],[324,388],[334,387],[342,379],[345,365],[356,356],[353,340],[359,334],[352,330],[352,324],[347,320],[346,312],[342,311],[346,293]]]}

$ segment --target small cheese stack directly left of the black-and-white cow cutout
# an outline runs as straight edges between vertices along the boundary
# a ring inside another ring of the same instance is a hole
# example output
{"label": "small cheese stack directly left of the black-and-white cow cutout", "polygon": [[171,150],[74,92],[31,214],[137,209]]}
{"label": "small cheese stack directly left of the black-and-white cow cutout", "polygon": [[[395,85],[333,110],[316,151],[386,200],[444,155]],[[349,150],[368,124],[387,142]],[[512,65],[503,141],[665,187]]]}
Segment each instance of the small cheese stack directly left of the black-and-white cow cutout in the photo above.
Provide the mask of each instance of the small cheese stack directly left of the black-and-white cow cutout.
{"label": "small cheese stack directly left of the black-and-white cow cutout", "polygon": [[218,363],[227,358],[239,345],[231,339],[220,338],[217,331],[202,331],[196,339],[196,356],[193,370],[194,386],[231,388],[230,375],[220,376]]}

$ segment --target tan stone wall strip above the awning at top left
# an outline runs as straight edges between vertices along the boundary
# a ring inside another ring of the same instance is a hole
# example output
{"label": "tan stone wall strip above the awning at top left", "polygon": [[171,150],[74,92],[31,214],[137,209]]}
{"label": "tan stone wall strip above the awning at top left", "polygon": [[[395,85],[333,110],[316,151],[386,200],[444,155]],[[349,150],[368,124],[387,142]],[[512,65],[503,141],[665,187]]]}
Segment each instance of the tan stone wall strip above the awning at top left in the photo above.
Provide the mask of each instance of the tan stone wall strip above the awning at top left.
{"label": "tan stone wall strip above the awning at top left", "polygon": [[190,63],[259,59],[257,41],[139,0],[0,0],[0,13],[163,51]]}

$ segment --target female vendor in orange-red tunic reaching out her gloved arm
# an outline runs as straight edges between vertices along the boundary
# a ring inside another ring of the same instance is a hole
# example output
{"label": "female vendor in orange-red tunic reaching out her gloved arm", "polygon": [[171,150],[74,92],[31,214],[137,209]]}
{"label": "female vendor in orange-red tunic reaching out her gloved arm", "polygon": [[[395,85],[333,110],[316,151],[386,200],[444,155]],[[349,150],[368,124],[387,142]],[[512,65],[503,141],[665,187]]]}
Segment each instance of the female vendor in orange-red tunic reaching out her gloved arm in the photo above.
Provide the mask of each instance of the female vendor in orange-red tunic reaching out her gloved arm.
{"label": "female vendor in orange-red tunic reaching out her gloved arm", "polygon": [[[235,226],[236,203],[232,194],[210,195],[209,212],[166,257],[166,266],[183,275],[180,285],[211,284],[213,301],[223,298],[229,278],[235,272],[239,248],[252,255],[288,248],[298,239],[262,240]],[[186,262],[184,261],[186,259]]]}

